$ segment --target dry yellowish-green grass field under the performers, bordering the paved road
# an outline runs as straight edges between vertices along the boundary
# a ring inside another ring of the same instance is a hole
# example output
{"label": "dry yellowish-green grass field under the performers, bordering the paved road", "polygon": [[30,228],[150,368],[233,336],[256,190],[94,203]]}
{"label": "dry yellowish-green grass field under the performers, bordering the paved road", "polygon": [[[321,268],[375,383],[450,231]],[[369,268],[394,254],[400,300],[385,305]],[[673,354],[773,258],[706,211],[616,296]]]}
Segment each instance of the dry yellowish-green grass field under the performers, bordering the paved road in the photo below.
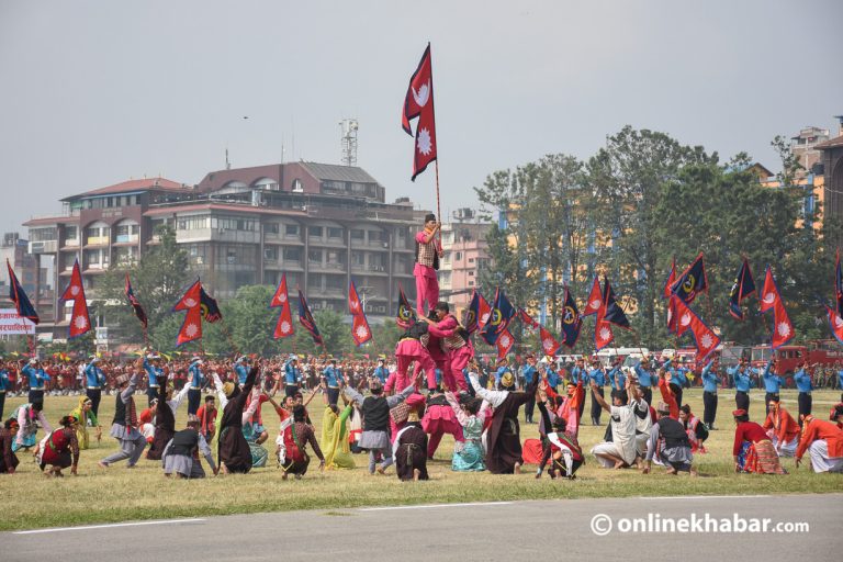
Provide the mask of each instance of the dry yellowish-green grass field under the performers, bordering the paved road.
{"label": "dry yellowish-green grass field under the performers, bordering the paved road", "polygon": [[[701,417],[701,391],[686,391],[685,396],[685,402]],[[816,392],[814,414],[827,418],[831,405],[839,398],[840,393],[836,391]],[[751,400],[752,419],[763,422],[763,393],[753,391]],[[7,400],[5,416],[22,401],[20,397]],[[144,395],[137,395],[136,401],[138,407],[146,405]],[[47,396],[47,418],[50,423],[57,422],[77,402],[76,396]],[[794,391],[783,394],[783,403],[796,415]],[[308,407],[316,424],[317,436],[321,435],[323,407],[318,396]],[[588,419],[589,407],[591,404],[586,405],[584,419]],[[68,470],[64,479],[45,477],[25,451],[19,453],[21,465],[18,473],[0,475],[0,497],[5,514],[0,520],[0,530],[372,505],[699,494],[800,494],[843,490],[843,475],[814,474],[807,463],[795,469],[793,459],[783,460],[790,472],[786,476],[735,474],[731,457],[734,425],[730,413],[733,408],[732,391],[721,392],[717,418],[720,430],[711,431],[706,443],[709,452],[696,456],[695,465],[700,472],[700,477],[696,479],[687,474],[668,476],[659,467],[654,467],[654,473],[650,475],[636,470],[600,469],[592,456],[587,457],[587,463],[577,472],[578,479],[573,482],[551,481],[547,475],[537,481],[533,477],[535,467],[531,465],[525,467],[524,473],[518,476],[454,473],[450,464],[453,440],[446,436],[436,460],[429,463],[431,480],[428,482],[402,483],[395,476],[394,469],[390,469],[386,476],[371,476],[366,470],[366,454],[356,457],[358,468],[355,470],[319,473],[318,461],[314,461],[303,480],[283,481],[281,471],[274,468],[271,451],[270,468],[255,469],[246,475],[177,481],[164,477],[159,462],[142,460],[134,470],[127,470],[125,462],[109,470],[97,467],[98,460],[117,449],[116,441],[108,437],[114,397],[103,396],[100,418],[109,422],[103,427],[103,440],[99,446],[94,441],[91,449],[81,452],[78,476],[70,476]],[[177,416],[177,428],[183,427],[186,417],[187,408],[182,405]],[[269,404],[265,404],[263,419],[270,430],[267,445],[274,447],[277,415]],[[607,419],[604,413],[603,423],[606,424]],[[604,430],[604,427],[591,425],[581,428],[580,442],[585,452],[602,439]],[[522,439],[537,435],[536,425],[521,426]]]}

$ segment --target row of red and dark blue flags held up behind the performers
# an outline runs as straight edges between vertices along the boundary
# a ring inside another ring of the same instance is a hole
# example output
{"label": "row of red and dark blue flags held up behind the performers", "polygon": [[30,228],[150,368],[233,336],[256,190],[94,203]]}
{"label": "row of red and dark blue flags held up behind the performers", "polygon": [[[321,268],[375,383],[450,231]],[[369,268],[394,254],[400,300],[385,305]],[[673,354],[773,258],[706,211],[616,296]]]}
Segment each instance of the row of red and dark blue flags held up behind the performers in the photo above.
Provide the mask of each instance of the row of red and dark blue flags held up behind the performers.
{"label": "row of red and dark blue flags held up behind the performers", "polygon": [[[37,324],[40,322],[37,312],[21,286],[8,260],[7,268],[10,279],[9,297],[14,303],[18,315],[21,318],[26,318]],[[676,274],[675,261],[672,263],[667,281],[664,285],[664,299],[668,301],[667,328],[677,337],[683,336],[687,331],[692,333],[697,347],[698,362],[705,361],[720,344],[720,337],[692,307],[696,297],[702,292],[708,293],[708,289],[705,257],[701,252],[682,274]],[[148,317],[132,288],[128,274],[125,278],[124,292],[135,316],[144,329],[146,329]],[[743,311],[744,301],[756,294],[756,292],[757,289],[750,262],[744,258],[729,296],[729,312],[735,319],[745,319]],[[830,306],[825,302],[823,302],[823,306],[828,313],[832,334],[838,341],[843,344],[843,266],[841,266],[839,252],[835,259],[834,294],[834,306]],[[89,331],[91,323],[78,261],[74,263],[70,281],[61,293],[60,301],[72,303],[68,338],[79,337]],[[764,284],[758,294],[758,301],[760,313],[773,311],[771,346],[773,349],[777,349],[795,337],[795,329],[769,266],[765,270]],[[292,336],[294,327],[285,274],[281,276],[278,289],[269,306],[271,308],[281,308],[273,330],[273,338],[279,339]],[[372,339],[372,333],[363,303],[353,281],[349,284],[348,307],[349,314],[352,317],[352,338],[358,346],[362,346]],[[223,317],[216,300],[204,290],[199,279],[187,289],[182,297],[173,306],[172,312],[186,312],[184,321],[177,336],[177,346],[201,339],[203,321],[214,323]],[[307,300],[301,290],[299,290],[297,312],[300,324],[311,335],[313,341],[324,346],[324,339],[316,326]],[[600,286],[599,279],[597,277],[594,278],[583,313],[578,311],[575,299],[570,290],[565,288],[560,340],[557,340],[549,329],[530,317],[524,308],[514,306],[501,288],[496,289],[495,299],[492,301],[492,304],[483,297],[480,291],[474,290],[465,312],[464,324],[469,334],[477,333],[486,344],[496,347],[498,357],[503,357],[512,350],[515,344],[515,338],[509,327],[512,321],[517,317],[526,327],[538,330],[542,350],[546,355],[553,355],[563,345],[569,348],[574,347],[582,330],[583,318],[591,315],[596,315],[594,342],[598,351],[615,339],[612,327],[632,329],[629,318],[618,304],[611,283],[606,277],[603,279],[603,286]],[[398,285],[396,322],[398,325],[407,327],[415,321],[416,313],[404,294],[403,288]]]}

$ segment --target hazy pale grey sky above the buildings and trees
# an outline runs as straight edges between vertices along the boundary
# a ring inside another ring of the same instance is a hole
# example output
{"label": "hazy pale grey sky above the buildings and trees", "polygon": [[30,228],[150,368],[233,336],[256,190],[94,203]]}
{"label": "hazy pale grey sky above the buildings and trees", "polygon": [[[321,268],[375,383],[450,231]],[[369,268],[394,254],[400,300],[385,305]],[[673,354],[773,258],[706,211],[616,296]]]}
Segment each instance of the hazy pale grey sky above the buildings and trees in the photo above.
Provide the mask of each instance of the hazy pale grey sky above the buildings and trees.
{"label": "hazy pale grey sky above the buildings and trees", "polygon": [[443,212],[626,124],[776,169],[776,134],[836,131],[841,22],[840,0],[0,0],[0,231],[133,177],[198,183],[226,146],[339,164],[344,117],[387,200],[434,207],[400,126],[428,41]]}

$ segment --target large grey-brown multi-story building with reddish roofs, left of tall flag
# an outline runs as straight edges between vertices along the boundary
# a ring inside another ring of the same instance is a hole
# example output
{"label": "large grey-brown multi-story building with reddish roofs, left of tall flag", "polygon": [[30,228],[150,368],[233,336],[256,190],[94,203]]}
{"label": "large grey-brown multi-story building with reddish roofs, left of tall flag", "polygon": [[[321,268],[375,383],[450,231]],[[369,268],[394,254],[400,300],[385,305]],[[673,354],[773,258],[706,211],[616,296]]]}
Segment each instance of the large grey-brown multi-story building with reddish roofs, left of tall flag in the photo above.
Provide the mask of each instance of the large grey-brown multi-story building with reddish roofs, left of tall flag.
{"label": "large grey-brown multi-story building with reddish roofs, left of tall flag", "polygon": [[346,311],[352,279],[374,317],[392,314],[400,282],[415,296],[417,212],[406,199],[386,203],[385,189],[361,168],[301,161],[226,169],[193,187],[132,180],[63,202],[61,216],[25,226],[41,244],[32,250],[55,260],[57,286],[80,260],[89,299],[111,265],[131,263],[158,244],[159,225],[176,231],[220,299],[243,285],[274,285],[282,273],[313,308]]}

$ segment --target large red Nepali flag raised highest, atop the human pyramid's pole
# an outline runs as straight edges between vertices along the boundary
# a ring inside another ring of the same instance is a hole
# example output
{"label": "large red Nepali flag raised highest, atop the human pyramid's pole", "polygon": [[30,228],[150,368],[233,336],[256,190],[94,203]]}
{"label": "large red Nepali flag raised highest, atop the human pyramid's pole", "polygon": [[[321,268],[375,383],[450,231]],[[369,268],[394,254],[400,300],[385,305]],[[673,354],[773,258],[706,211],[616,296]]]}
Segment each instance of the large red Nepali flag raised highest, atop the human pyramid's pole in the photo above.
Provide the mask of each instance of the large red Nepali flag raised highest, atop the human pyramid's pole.
{"label": "large red Nepali flag raised highest, atop the human pyramid's pole", "polygon": [[401,115],[401,126],[413,136],[409,122],[418,117],[416,123],[416,147],[413,158],[413,181],[425,171],[427,165],[436,160],[436,119],[434,116],[434,70],[430,63],[430,44],[418,68],[409,78],[407,95],[404,99],[404,111]]}

